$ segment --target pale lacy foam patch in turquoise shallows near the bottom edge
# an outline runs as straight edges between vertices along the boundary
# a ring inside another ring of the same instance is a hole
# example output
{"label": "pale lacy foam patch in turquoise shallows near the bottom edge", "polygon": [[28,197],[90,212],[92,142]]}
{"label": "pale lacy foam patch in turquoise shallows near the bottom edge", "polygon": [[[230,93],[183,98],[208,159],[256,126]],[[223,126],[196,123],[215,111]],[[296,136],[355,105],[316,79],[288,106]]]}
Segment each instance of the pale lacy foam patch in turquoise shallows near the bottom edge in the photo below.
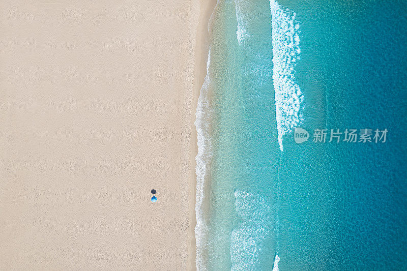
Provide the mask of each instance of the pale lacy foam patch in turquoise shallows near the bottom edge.
{"label": "pale lacy foam patch in turquoise shallows near the bottom edge", "polygon": [[243,221],[232,231],[230,270],[255,270],[264,248],[264,239],[273,230],[272,210],[257,194],[235,192],[236,211]]}

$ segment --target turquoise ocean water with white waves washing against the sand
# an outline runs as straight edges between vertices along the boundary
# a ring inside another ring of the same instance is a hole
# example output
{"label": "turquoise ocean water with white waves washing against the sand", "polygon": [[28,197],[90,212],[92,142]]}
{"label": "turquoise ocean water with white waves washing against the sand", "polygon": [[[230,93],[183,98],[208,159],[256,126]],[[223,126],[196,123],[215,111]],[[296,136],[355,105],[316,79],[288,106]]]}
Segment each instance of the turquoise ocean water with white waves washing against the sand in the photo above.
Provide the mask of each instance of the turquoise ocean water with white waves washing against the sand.
{"label": "turquoise ocean water with white waves washing against the sand", "polygon": [[[407,268],[406,13],[218,1],[195,122],[198,270]],[[366,128],[386,142],[311,140]]]}

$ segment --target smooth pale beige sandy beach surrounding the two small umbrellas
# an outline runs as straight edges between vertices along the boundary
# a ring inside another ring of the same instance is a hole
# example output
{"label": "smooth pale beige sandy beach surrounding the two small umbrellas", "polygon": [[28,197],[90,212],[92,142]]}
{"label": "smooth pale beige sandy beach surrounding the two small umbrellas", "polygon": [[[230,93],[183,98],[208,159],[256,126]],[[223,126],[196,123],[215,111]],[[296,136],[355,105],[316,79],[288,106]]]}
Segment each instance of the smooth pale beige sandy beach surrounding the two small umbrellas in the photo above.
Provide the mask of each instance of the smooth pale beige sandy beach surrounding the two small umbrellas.
{"label": "smooth pale beige sandy beach surrounding the two small umbrellas", "polygon": [[0,269],[195,269],[214,5],[0,1]]}

